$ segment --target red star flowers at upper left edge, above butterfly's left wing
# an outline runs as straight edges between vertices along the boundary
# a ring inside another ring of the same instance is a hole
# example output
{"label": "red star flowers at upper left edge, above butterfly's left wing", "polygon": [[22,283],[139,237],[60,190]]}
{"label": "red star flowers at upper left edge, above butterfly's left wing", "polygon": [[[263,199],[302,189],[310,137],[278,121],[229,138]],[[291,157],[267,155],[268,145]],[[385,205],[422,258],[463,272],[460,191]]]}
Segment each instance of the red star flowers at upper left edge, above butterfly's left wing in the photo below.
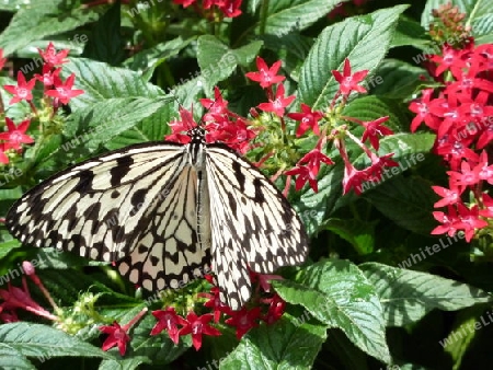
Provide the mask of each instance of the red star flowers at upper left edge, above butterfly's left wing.
{"label": "red star flowers at upper left edge, above butterfly's left wing", "polygon": [[[43,74],[34,74],[34,78],[26,81],[22,71],[18,72],[18,84],[7,84],[3,89],[11,93],[13,96],[10,100],[9,104],[15,104],[22,101],[25,101],[30,104],[33,114],[38,115],[37,108],[33,103],[33,89],[36,84],[36,81],[41,81],[44,85],[44,95],[51,101],[53,105],[53,115],[56,113],[57,108],[60,104],[68,104],[69,101],[83,93],[82,90],[72,90],[73,81],[76,76],[72,73],[67,78],[66,81],[62,81],[59,77],[61,68],[60,66],[68,60],[66,59],[69,50],[65,49],[60,53],[56,53],[56,49],[51,43],[48,44],[46,50],[38,49],[39,55],[42,56],[45,63],[43,65]],[[5,59],[2,58],[3,51],[0,49],[0,69],[3,67]],[[43,101],[45,102],[45,101]],[[22,152],[22,143],[33,143],[34,140],[28,135],[26,135],[26,130],[30,127],[31,118],[26,118],[21,122],[18,126],[13,123],[13,120],[9,117],[5,117],[7,124],[7,132],[0,134],[0,163],[8,164],[9,157],[5,154],[5,151],[12,149],[16,151],[19,154]]]}

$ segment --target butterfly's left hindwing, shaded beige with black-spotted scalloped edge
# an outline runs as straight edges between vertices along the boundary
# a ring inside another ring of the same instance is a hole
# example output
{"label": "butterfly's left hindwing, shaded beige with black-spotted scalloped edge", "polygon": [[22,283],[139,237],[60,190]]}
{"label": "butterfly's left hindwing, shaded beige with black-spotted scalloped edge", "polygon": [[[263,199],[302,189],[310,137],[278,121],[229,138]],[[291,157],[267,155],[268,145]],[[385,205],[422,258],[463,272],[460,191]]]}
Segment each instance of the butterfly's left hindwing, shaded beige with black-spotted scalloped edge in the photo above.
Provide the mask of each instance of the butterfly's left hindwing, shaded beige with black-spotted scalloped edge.
{"label": "butterfly's left hindwing, shaded beige with black-spotted scalloped edge", "polygon": [[145,232],[136,247],[117,262],[118,270],[147,290],[183,288],[209,273],[210,243],[197,229],[197,173],[184,165],[168,184],[165,196],[149,208]]}

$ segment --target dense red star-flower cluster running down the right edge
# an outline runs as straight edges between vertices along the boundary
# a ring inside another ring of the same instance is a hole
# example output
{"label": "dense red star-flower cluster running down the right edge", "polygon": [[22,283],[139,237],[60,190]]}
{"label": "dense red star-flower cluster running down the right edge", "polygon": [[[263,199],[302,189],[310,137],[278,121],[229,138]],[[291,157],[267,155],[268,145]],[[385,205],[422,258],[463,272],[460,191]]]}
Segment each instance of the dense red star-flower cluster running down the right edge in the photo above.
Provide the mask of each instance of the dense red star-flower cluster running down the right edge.
{"label": "dense red star-flower cluster running down the right edge", "polygon": [[472,38],[460,49],[445,44],[442,55],[429,57],[427,68],[443,88],[426,89],[410,104],[416,114],[411,130],[424,123],[435,131],[434,152],[450,167],[448,187],[433,186],[443,197],[435,207],[447,209],[433,212],[442,226],[432,234],[463,231],[469,242],[493,217],[485,193],[485,183],[493,184],[488,149],[493,140],[493,45],[474,47]]}

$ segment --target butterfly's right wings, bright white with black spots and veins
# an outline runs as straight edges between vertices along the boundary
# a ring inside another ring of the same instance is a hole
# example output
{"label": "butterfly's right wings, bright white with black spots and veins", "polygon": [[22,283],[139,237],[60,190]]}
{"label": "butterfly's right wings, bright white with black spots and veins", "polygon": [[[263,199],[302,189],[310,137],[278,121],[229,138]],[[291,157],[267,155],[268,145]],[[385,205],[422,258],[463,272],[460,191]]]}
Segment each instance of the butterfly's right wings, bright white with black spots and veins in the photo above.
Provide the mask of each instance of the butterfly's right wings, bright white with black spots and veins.
{"label": "butterfly's right wings, bright white with black spots and veins", "polygon": [[273,274],[299,265],[308,236],[296,211],[252,163],[223,144],[207,147],[211,264],[220,299],[233,310],[250,298],[248,267]]}

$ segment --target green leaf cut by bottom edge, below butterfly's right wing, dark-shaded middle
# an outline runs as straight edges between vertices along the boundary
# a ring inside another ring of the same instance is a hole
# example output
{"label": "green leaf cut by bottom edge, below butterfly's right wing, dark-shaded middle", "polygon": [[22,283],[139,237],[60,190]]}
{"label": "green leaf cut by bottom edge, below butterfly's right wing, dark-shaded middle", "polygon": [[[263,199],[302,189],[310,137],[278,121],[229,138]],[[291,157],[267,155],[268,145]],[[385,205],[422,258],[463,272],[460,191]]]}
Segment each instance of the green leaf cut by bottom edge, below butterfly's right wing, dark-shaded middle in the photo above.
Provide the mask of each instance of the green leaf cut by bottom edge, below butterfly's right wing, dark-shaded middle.
{"label": "green leaf cut by bottom edge, below butterfly's right wing, dark-shaded middle", "polygon": [[246,334],[226,358],[220,369],[290,370],[311,369],[322,343],[326,325],[299,323],[287,313],[274,325],[262,324]]}

